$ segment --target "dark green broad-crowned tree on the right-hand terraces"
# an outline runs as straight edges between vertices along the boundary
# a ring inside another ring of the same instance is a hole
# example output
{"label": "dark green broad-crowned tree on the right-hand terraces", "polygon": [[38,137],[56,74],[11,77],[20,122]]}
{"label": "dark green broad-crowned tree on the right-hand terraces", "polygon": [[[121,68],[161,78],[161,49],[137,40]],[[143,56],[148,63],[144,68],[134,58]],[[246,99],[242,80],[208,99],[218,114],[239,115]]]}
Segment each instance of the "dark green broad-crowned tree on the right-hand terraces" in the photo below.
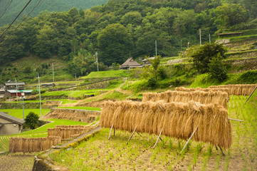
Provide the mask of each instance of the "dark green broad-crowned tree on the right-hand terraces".
{"label": "dark green broad-crowned tree on the right-hand terraces", "polygon": [[188,54],[193,58],[194,67],[199,73],[209,73],[209,63],[212,58],[216,58],[219,54],[221,59],[226,58],[224,53],[226,49],[222,44],[206,43],[203,46],[192,47]]}

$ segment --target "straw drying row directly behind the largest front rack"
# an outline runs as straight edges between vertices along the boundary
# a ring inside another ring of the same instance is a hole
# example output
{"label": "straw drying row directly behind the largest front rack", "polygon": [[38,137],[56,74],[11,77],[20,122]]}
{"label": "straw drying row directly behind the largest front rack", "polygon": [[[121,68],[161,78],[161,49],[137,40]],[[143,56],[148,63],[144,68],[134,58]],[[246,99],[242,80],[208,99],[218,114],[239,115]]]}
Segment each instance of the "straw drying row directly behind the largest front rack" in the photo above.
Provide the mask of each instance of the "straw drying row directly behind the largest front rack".
{"label": "straw drying row directly behind the largest front rack", "polygon": [[142,102],[153,101],[157,102],[164,100],[166,103],[169,102],[183,102],[187,103],[191,100],[199,102],[201,104],[216,103],[222,105],[224,108],[227,107],[229,100],[229,94],[221,91],[201,91],[194,90],[192,92],[168,90],[164,93],[143,93]]}

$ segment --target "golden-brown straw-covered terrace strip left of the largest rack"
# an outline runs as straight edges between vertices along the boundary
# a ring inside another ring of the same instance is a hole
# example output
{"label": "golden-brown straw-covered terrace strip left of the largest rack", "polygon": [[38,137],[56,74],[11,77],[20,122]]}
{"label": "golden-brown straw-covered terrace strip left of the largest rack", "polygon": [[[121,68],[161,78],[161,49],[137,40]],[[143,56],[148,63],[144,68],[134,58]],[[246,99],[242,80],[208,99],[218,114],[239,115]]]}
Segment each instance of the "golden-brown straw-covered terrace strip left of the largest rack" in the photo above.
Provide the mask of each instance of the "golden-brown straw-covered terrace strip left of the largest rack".
{"label": "golden-brown straw-covered terrace strip left of the largest rack", "polygon": [[45,115],[43,119],[64,119],[93,123],[99,115],[99,111],[52,108],[51,112]]}

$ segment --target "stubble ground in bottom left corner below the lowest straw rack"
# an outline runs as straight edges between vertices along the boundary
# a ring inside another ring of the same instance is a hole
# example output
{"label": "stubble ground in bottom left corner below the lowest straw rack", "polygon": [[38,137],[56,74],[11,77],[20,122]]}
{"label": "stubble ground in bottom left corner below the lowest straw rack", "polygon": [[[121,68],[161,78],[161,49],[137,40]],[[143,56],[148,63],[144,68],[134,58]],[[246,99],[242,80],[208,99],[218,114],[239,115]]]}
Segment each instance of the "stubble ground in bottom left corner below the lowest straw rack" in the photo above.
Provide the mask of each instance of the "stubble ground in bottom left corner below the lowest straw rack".
{"label": "stubble ground in bottom left corner below the lowest straw rack", "polygon": [[35,152],[23,155],[21,154],[9,154],[0,155],[0,170],[32,170]]}

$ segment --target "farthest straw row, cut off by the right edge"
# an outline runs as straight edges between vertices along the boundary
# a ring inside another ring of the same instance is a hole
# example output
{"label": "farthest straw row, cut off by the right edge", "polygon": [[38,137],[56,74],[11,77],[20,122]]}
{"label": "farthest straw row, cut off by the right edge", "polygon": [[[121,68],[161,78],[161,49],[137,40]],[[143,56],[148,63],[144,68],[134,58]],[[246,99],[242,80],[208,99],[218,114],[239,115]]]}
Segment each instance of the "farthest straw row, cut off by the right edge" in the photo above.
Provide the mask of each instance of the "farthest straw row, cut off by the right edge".
{"label": "farthest straw row, cut off by the right edge", "polygon": [[209,86],[209,88],[229,88],[230,95],[250,95],[257,84],[229,84],[222,86]]}

